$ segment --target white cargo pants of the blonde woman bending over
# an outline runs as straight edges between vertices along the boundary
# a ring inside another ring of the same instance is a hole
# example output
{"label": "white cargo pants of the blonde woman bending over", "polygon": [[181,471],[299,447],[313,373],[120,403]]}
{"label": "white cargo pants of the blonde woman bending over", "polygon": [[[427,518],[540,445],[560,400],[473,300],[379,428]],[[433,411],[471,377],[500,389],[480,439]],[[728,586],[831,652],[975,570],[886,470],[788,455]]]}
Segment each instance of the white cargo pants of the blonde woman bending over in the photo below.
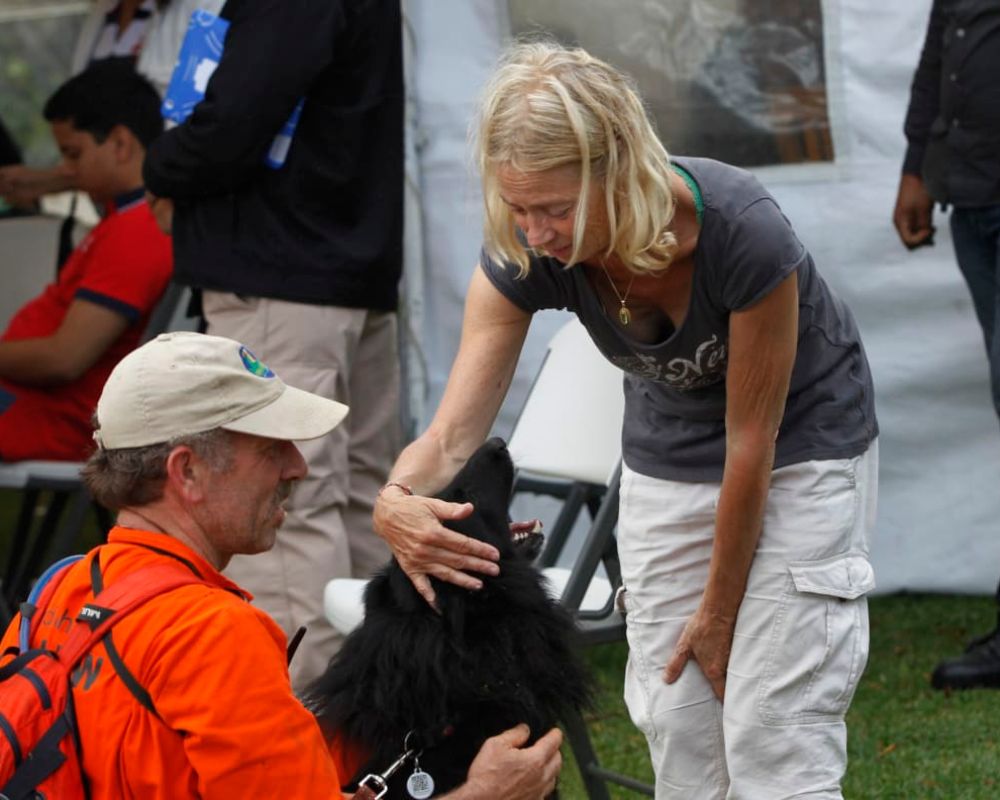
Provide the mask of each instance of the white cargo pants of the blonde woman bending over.
{"label": "white cargo pants of the blonde woman bending over", "polygon": [[622,474],[625,701],[659,800],[841,798],[844,715],[868,658],[877,445],[777,469],[720,703],[694,661],[663,670],[701,600],[718,483]]}

